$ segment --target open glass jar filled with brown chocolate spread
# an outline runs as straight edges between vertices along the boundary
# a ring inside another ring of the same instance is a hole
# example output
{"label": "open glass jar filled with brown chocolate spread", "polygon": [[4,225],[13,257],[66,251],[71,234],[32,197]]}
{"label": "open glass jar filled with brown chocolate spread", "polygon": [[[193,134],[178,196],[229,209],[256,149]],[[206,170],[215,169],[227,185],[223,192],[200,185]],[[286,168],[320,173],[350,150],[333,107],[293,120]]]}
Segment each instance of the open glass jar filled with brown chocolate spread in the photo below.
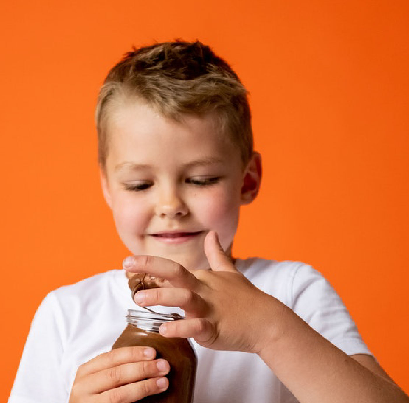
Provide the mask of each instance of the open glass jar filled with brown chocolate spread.
{"label": "open glass jar filled with brown chocolate spread", "polygon": [[159,333],[162,323],[182,319],[178,314],[162,314],[152,311],[128,309],[128,325],[112,346],[153,347],[157,358],[164,358],[171,369],[167,375],[169,388],[160,394],[146,396],[141,403],[191,403],[196,377],[197,358],[186,338],[163,337]]}

